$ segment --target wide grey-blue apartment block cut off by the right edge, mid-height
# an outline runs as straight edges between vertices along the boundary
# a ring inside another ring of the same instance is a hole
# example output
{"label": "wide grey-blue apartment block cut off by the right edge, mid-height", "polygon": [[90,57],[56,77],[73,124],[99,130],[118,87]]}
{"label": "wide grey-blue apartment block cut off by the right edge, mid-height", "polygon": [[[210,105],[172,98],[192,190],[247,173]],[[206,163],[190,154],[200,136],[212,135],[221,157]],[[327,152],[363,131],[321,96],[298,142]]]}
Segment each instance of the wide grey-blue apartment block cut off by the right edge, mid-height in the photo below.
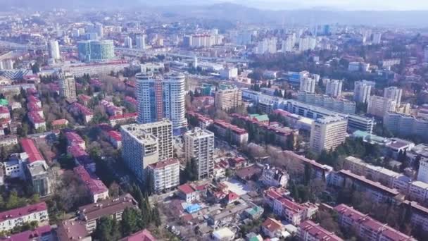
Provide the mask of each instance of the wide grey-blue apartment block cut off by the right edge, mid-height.
{"label": "wide grey-blue apartment block cut off by the right edge, mid-height", "polygon": [[428,140],[428,119],[394,111],[384,114],[384,128],[403,137],[418,136]]}

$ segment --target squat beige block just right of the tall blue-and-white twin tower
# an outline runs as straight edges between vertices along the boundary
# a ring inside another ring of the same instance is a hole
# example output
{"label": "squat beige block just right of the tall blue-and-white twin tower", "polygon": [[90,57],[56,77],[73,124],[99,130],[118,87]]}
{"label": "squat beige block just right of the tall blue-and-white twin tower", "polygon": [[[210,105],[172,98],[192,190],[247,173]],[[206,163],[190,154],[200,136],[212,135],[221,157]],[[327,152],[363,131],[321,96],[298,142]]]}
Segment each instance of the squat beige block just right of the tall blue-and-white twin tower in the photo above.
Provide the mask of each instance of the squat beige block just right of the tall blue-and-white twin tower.
{"label": "squat beige block just right of the tall blue-and-white twin tower", "polygon": [[215,92],[215,108],[230,111],[242,105],[242,91],[237,87],[218,89]]}

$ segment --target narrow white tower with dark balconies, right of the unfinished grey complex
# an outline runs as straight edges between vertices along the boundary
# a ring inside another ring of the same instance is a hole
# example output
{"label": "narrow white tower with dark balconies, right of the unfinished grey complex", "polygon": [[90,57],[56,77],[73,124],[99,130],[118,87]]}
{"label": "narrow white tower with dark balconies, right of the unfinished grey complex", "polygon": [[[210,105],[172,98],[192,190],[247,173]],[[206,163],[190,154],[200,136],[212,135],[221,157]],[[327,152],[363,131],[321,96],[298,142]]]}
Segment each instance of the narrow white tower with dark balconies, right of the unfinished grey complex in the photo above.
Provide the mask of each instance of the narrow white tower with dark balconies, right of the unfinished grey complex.
{"label": "narrow white tower with dark balconies, right of the unfinished grey complex", "polygon": [[198,179],[209,178],[214,173],[214,133],[195,128],[184,134],[186,161],[196,161]]}

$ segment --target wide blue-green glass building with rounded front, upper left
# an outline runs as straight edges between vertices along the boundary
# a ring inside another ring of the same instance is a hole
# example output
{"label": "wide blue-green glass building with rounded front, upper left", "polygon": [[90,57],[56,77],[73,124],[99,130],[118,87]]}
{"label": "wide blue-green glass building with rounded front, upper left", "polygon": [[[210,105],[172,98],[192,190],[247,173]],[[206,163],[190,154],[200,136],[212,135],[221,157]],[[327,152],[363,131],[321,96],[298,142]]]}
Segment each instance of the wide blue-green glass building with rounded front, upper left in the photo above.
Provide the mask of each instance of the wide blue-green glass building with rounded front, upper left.
{"label": "wide blue-green glass building with rounded front, upper left", "polygon": [[85,40],[77,42],[80,61],[108,61],[115,58],[113,40]]}

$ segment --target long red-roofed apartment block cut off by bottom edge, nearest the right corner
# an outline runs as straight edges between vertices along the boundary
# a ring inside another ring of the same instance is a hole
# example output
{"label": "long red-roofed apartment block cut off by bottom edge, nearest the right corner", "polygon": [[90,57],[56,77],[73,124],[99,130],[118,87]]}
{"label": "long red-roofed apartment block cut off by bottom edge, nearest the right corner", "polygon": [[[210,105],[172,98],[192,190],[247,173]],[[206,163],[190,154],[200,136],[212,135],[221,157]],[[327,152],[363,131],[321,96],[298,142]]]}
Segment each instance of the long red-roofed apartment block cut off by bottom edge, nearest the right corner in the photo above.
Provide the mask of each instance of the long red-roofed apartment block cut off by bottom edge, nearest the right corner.
{"label": "long red-roofed apartment block cut off by bottom edge, nearest the right corner", "polygon": [[385,223],[381,223],[370,216],[356,211],[350,206],[340,204],[334,207],[339,214],[339,225],[344,228],[353,228],[358,237],[367,241],[416,241],[413,237],[391,228]]}

